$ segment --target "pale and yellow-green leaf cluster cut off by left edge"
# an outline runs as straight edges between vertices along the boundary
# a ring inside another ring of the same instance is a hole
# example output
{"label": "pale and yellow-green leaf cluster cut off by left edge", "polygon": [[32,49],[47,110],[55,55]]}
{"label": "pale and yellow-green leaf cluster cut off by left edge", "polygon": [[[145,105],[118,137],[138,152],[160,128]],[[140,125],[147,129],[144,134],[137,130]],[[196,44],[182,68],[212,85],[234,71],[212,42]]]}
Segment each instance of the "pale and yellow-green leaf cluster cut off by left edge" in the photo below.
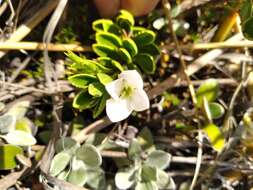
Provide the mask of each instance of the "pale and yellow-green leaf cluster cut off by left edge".
{"label": "pale and yellow-green leaf cluster cut off by left edge", "polygon": [[26,147],[36,144],[33,134],[36,127],[25,117],[29,102],[14,104],[0,116],[0,138],[7,144],[0,145],[0,170],[9,170],[17,166],[16,156],[24,154]]}

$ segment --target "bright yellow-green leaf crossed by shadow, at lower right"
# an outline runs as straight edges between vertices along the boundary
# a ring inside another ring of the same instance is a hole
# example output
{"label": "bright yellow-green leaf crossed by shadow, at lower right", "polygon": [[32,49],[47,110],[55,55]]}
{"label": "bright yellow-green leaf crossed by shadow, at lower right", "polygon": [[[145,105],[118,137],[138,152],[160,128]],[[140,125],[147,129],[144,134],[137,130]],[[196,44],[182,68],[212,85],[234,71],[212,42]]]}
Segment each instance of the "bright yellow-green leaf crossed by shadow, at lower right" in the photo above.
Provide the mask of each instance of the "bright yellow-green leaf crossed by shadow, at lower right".
{"label": "bright yellow-green leaf crossed by shadow, at lower right", "polygon": [[214,150],[220,152],[225,145],[224,135],[215,124],[209,124],[203,128]]}

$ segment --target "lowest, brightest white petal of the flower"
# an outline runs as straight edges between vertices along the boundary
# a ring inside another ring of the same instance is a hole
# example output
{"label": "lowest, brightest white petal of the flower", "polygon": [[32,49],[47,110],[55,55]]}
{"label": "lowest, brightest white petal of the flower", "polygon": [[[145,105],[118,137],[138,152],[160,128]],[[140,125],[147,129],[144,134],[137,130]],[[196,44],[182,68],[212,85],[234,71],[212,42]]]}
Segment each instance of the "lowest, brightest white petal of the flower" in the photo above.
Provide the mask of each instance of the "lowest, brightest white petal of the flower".
{"label": "lowest, brightest white petal of the flower", "polygon": [[114,100],[111,98],[106,101],[106,114],[112,122],[126,119],[131,112],[131,106],[126,100]]}

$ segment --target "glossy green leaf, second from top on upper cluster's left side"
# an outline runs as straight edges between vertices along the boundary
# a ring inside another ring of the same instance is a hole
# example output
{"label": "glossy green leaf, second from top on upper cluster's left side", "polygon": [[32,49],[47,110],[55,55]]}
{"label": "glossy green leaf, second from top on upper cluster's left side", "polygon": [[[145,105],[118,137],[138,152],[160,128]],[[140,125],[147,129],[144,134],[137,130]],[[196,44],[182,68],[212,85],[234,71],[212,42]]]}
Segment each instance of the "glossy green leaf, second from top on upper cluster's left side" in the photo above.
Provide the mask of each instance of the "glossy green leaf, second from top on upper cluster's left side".
{"label": "glossy green leaf, second from top on upper cluster's left side", "polygon": [[109,32],[96,33],[96,41],[99,45],[110,46],[111,48],[118,48],[122,45],[121,39]]}

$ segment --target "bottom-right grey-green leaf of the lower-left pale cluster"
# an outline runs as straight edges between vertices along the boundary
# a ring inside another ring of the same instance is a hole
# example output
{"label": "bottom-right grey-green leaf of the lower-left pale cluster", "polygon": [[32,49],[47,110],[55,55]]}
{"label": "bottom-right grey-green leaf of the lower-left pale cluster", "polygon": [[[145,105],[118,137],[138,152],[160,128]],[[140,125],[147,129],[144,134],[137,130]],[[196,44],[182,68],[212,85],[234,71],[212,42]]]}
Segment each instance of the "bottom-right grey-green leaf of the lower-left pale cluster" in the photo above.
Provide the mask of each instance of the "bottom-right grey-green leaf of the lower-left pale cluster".
{"label": "bottom-right grey-green leaf of the lower-left pale cluster", "polygon": [[93,189],[104,189],[105,173],[101,168],[87,170],[87,184]]}

